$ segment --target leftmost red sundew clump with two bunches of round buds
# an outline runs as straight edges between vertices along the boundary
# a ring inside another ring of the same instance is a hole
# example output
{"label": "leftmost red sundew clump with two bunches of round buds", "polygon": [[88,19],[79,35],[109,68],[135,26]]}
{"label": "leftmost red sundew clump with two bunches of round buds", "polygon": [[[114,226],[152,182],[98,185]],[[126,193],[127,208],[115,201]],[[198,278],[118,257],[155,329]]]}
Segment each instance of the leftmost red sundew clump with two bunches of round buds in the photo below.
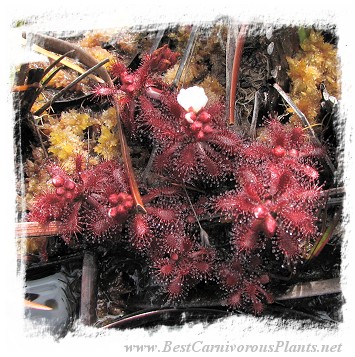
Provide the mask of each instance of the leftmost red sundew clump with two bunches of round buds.
{"label": "leftmost red sundew clump with two bunches of round buds", "polygon": [[84,169],[83,164],[83,158],[77,156],[72,174],[57,164],[48,165],[50,188],[36,198],[28,216],[39,223],[60,222],[59,231],[66,242],[83,232],[93,239],[103,238],[121,227],[133,207],[118,162],[105,161],[90,169]]}

